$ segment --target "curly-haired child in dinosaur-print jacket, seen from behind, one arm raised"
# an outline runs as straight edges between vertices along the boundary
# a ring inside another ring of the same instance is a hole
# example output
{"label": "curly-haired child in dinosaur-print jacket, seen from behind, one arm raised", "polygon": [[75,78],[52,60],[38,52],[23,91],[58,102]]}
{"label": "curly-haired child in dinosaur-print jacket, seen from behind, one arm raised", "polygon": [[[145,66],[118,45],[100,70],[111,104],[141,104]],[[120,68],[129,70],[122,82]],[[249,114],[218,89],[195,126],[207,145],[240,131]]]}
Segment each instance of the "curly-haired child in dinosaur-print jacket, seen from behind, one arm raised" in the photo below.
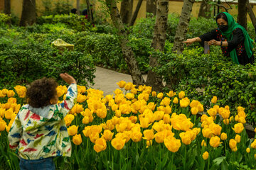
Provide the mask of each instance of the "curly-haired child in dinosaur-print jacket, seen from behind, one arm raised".
{"label": "curly-haired child in dinosaur-print jacket, seen from behind, one arm raised", "polygon": [[9,130],[9,147],[20,157],[23,169],[55,169],[53,157],[71,155],[71,143],[64,117],[78,95],[75,79],[67,73],[60,77],[70,84],[62,103],[58,103],[54,79],[38,79],[28,87],[28,104],[21,107]]}

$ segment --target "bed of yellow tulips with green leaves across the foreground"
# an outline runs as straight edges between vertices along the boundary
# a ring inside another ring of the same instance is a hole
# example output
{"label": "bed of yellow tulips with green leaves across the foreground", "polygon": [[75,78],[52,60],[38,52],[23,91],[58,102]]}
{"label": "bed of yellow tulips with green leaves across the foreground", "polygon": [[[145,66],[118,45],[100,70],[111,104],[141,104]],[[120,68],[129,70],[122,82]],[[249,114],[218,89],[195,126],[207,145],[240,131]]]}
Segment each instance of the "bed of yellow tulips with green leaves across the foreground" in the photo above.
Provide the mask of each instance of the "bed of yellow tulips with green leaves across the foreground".
{"label": "bed of yellow tulips with green leaves across the foreground", "polygon": [[[75,106],[64,118],[73,152],[54,159],[57,169],[256,169],[256,140],[245,132],[245,108],[230,113],[213,96],[206,110],[184,91],[117,84],[120,89],[107,96],[78,85]],[[65,99],[67,87],[57,91]],[[0,168],[18,167],[7,135],[25,96],[24,86],[0,90],[0,160],[6,162]]]}

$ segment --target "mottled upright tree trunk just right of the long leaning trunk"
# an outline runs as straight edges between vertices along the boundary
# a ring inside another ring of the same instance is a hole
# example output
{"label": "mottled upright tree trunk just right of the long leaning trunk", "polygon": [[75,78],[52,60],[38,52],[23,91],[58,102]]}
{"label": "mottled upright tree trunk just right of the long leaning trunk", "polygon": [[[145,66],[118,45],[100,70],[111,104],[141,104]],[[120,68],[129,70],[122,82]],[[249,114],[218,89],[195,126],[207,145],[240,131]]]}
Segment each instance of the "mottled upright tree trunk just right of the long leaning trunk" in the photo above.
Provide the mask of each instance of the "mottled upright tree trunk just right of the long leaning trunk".
{"label": "mottled upright tree trunk just right of the long leaning trunk", "polygon": [[[168,18],[168,10],[169,10],[169,0],[158,0],[157,8],[156,8],[156,23],[154,25],[154,35],[152,47],[154,50],[164,51],[164,45],[166,40],[166,29],[167,29],[167,18]],[[149,57],[149,65],[154,68],[157,67],[158,58],[153,57],[152,55]],[[152,69],[149,70],[146,84],[152,86],[152,90],[154,91],[162,91],[164,85],[162,83],[161,76],[156,74]]]}

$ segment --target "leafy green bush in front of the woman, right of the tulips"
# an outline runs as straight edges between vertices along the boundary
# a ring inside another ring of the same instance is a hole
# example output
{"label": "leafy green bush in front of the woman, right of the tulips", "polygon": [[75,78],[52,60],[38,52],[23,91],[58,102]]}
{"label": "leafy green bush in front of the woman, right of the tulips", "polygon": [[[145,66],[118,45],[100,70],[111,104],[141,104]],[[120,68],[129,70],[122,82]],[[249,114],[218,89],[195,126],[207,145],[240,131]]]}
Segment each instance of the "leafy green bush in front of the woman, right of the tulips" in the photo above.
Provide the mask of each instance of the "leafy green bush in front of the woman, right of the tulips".
{"label": "leafy green bush in front of the woman, right of the tulips", "polygon": [[210,107],[211,98],[217,96],[218,103],[233,108],[233,115],[235,108],[242,106],[248,114],[247,121],[256,121],[256,64],[233,64],[219,47],[211,47],[210,55],[203,54],[203,47],[185,50],[182,55],[166,50],[159,61],[156,70],[169,88],[185,91],[188,98],[201,101],[206,108]]}

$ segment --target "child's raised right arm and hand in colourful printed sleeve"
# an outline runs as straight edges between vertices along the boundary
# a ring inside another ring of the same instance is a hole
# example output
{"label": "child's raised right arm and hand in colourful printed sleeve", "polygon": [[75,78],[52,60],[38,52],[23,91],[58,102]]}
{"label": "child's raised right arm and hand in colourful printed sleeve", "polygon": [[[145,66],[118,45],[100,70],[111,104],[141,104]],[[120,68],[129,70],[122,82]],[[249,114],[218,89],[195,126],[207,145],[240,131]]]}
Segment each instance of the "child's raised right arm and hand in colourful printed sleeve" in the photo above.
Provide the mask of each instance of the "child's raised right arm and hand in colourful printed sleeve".
{"label": "child's raised right arm and hand in colourful printed sleeve", "polygon": [[64,118],[65,115],[73,108],[74,100],[78,96],[78,87],[76,81],[69,74],[64,73],[60,74],[60,77],[70,86],[68,86],[68,93],[66,94],[66,98],[62,103],[58,103],[58,112],[63,113],[59,115],[60,119]]}

